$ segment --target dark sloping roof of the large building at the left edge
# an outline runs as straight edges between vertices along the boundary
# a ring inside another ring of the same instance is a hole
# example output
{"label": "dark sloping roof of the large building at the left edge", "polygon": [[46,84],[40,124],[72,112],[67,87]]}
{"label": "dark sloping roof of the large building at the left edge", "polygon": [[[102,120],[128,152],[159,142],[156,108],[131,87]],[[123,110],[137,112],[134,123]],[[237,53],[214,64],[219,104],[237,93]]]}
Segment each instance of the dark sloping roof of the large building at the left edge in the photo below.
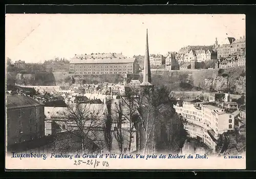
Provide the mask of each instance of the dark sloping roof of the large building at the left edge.
{"label": "dark sloping roof of the large building at the left edge", "polygon": [[7,95],[7,109],[24,108],[44,105],[31,97],[24,95]]}

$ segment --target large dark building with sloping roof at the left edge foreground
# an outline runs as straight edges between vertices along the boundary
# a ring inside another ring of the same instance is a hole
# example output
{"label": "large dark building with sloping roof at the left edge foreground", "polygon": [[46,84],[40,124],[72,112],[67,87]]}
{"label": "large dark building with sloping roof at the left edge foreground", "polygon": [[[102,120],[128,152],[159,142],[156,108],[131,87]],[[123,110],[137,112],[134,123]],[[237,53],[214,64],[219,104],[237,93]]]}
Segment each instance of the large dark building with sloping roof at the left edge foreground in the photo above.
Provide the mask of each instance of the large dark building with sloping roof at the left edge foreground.
{"label": "large dark building with sloping roof at the left edge foreground", "polygon": [[45,135],[44,104],[24,95],[7,96],[7,145]]}

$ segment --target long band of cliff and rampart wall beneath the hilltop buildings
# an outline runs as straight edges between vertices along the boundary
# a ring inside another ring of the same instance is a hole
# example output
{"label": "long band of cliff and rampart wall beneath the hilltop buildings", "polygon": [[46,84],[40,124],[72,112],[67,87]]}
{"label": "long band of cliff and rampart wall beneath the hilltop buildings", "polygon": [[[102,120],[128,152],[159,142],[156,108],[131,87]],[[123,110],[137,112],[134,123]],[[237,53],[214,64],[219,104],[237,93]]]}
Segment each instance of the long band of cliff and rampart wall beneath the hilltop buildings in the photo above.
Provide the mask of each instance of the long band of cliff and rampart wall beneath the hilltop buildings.
{"label": "long band of cliff and rampart wall beneath the hilltop buildings", "polygon": [[[172,91],[224,91],[227,92],[227,77],[229,74],[230,92],[245,93],[245,68],[212,69],[202,71],[170,71],[152,72],[154,85],[167,85]],[[142,74],[127,77],[143,80]],[[7,74],[7,82],[23,85],[59,85],[68,88],[72,83],[118,83],[123,82],[122,75],[72,76],[69,73],[36,73],[36,74]]]}

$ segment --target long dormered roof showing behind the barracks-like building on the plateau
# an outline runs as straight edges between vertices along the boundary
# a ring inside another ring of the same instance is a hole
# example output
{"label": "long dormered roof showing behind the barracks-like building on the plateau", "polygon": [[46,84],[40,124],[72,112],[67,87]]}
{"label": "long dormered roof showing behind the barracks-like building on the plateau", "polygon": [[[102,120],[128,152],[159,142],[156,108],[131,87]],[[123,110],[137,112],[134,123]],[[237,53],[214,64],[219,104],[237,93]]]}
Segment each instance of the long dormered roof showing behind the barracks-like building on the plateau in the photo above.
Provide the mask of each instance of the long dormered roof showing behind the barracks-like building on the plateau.
{"label": "long dormered roof showing behind the barracks-like building on the plateau", "polygon": [[122,53],[91,53],[91,54],[75,54],[72,59],[97,59],[97,58],[124,58]]}

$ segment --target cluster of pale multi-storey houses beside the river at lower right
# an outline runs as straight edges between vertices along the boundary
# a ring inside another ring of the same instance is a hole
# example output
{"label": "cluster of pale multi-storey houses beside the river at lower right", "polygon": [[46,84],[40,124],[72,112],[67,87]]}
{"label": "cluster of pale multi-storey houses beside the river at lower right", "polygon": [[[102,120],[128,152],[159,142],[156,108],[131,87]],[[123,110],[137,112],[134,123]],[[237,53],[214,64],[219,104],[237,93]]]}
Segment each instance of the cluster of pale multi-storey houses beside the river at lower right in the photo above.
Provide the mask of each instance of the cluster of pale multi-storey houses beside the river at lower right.
{"label": "cluster of pale multi-storey houses beside the river at lower right", "polygon": [[189,137],[196,138],[215,150],[218,138],[224,133],[245,125],[245,105],[232,102],[229,94],[211,93],[208,101],[178,100],[176,112],[187,120]]}

